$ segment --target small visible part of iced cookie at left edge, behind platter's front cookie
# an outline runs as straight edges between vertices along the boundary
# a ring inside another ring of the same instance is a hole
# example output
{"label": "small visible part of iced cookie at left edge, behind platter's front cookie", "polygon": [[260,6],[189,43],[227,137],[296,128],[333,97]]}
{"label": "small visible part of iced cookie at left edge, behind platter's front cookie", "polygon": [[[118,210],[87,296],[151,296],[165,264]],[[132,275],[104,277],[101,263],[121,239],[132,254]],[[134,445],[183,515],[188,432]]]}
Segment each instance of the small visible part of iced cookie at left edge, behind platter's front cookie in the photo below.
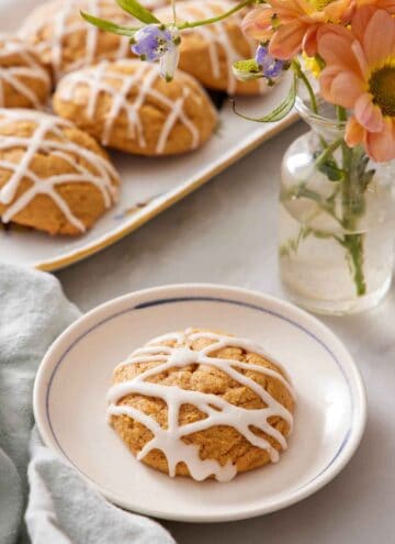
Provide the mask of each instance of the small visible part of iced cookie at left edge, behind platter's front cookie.
{"label": "small visible part of iced cookie at left edge, behind platter's front cookie", "polygon": [[50,92],[47,69],[32,47],[0,33],[0,108],[42,109]]}

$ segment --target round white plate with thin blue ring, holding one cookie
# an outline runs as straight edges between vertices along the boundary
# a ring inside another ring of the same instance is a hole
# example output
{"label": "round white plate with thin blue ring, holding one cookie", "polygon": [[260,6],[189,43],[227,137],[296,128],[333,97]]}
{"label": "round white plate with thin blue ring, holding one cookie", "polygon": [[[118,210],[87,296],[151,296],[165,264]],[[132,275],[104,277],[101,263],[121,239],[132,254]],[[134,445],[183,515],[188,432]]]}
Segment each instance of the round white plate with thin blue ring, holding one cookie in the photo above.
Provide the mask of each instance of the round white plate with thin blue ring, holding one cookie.
{"label": "round white plate with thin blue ring, holding one cookie", "polygon": [[[228,484],[171,479],[137,462],[106,424],[114,366],[150,337],[191,325],[247,336],[286,366],[297,407],[290,448],[279,464]],[[114,503],[157,518],[208,522],[272,512],[326,485],[359,445],[366,401],[350,354],[318,320],[258,292],[191,284],[126,295],[78,320],[40,367],[34,412],[45,443]]]}

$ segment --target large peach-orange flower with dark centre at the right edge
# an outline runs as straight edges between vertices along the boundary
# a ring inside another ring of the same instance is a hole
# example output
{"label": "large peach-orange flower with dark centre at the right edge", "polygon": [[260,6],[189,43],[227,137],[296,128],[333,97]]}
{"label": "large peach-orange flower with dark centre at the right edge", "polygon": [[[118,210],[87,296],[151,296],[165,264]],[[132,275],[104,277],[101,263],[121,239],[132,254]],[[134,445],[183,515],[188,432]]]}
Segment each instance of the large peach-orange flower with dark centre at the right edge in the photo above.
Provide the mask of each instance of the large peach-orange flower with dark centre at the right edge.
{"label": "large peach-orange flower with dark centre at the right edge", "polygon": [[376,162],[395,158],[395,19],[372,5],[357,10],[351,30],[318,31],[319,76],[328,102],[353,110],[346,127],[350,146],[362,143]]}

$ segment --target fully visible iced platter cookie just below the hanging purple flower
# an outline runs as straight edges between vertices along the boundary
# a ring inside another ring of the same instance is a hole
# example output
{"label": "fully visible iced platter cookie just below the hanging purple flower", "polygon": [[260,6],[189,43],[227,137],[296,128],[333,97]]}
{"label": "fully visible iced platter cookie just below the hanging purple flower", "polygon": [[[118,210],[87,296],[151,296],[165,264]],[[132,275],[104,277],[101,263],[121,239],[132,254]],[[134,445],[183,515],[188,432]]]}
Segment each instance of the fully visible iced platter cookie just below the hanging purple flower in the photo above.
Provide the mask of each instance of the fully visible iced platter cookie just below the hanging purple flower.
{"label": "fully visible iced platter cookie just below the hanging purple flower", "polygon": [[171,82],[156,64],[123,59],[61,79],[54,110],[103,145],[140,155],[171,155],[202,145],[216,112],[201,85],[178,71]]}

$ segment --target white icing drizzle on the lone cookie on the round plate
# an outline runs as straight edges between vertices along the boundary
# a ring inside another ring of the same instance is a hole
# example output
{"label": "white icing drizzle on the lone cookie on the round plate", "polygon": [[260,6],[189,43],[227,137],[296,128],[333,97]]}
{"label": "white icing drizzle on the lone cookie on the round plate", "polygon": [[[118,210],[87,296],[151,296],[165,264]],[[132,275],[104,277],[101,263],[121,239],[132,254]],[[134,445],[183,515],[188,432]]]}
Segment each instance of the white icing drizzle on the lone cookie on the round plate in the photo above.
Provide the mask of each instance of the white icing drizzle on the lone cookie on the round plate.
{"label": "white icing drizzle on the lone cookie on the round plate", "polygon": [[[213,343],[201,351],[191,349],[189,347],[191,343],[200,338],[210,338]],[[168,341],[174,342],[174,347],[161,345],[163,342]],[[275,362],[275,365],[284,373],[286,378],[279,371],[266,368],[261,365],[219,358],[217,355],[213,355],[215,352],[230,346],[261,355],[266,359],[274,363],[273,358],[269,356],[261,346],[249,340],[210,332],[193,332],[193,330],[188,329],[182,333],[170,333],[153,340],[145,347],[136,349],[127,360],[117,365],[116,368],[138,363],[158,363],[158,365],[148,368],[133,379],[114,385],[108,393],[109,417],[128,415],[145,425],[154,435],[138,453],[137,459],[143,459],[153,449],[160,449],[167,458],[169,475],[172,477],[176,475],[177,465],[183,462],[188,466],[190,475],[195,480],[203,480],[208,476],[214,475],[218,481],[228,481],[234,478],[237,473],[236,467],[230,462],[227,465],[222,466],[214,459],[202,460],[199,454],[199,446],[185,444],[182,441],[183,436],[191,433],[204,431],[215,425],[228,425],[236,429],[252,445],[267,451],[272,463],[278,462],[279,452],[268,440],[253,433],[251,426],[272,436],[281,445],[282,449],[286,449],[287,444],[285,437],[281,432],[274,429],[268,420],[272,417],[280,417],[287,422],[292,430],[293,417],[291,412],[278,402],[261,385],[241,374],[240,370],[253,370],[275,378],[281,381],[294,397],[290,378],[278,362]],[[208,365],[222,370],[235,381],[251,389],[262,400],[266,408],[255,410],[245,409],[242,407],[236,407],[216,395],[147,381],[148,378],[170,368],[182,368],[190,364]],[[167,429],[162,429],[155,419],[144,412],[129,406],[119,403],[125,396],[133,393],[160,398],[167,403]],[[179,413],[182,404],[195,406],[206,414],[206,418],[185,425],[179,425]]]}

